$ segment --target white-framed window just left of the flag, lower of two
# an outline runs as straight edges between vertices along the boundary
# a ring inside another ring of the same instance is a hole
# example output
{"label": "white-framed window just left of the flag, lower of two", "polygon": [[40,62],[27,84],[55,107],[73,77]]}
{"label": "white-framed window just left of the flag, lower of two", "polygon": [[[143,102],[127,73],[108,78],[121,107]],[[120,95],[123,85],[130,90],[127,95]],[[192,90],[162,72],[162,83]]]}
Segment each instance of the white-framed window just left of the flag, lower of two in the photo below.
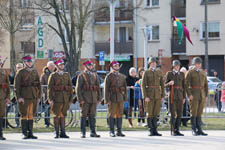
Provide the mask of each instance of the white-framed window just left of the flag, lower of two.
{"label": "white-framed window just left of the flag, lower of two", "polygon": [[146,32],[148,41],[158,41],[159,40],[159,25],[149,25],[146,26]]}

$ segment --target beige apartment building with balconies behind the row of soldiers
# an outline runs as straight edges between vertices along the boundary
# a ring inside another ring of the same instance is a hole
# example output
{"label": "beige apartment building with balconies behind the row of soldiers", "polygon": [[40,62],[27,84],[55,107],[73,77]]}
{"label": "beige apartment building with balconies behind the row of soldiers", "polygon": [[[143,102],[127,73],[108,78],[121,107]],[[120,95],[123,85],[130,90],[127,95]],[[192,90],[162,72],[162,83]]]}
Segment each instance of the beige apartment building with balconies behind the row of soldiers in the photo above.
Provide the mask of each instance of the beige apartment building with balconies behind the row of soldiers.
{"label": "beige apartment building with balconies behind the row of soldiers", "polygon": [[[31,0],[20,0],[21,7],[28,7]],[[225,18],[222,14],[225,4],[221,0],[208,0],[208,35],[209,35],[209,75],[217,71],[219,77],[224,79],[224,54],[225,54]],[[99,64],[99,52],[104,52],[104,70],[109,70],[110,55],[110,10],[108,0],[95,0],[93,7],[104,6],[93,14],[84,31],[84,41],[81,52],[81,64],[86,58]],[[68,2],[65,0],[64,7]],[[69,8],[69,7],[68,7]],[[172,16],[179,18],[190,31],[194,45],[184,38],[179,44],[177,29],[173,24]],[[25,54],[38,56],[37,67],[41,68],[49,59],[63,56],[63,46],[58,35],[45,23],[55,24],[55,19],[41,12],[30,12],[24,20],[20,31],[16,34],[17,57]],[[38,20],[43,23],[38,25]],[[39,27],[43,40],[39,46]],[[148,29],[147,36],[144,30]],[[65,30],[65,35],[66,35]],[[117,0],[115,4],[115,60],[122,67],[122,73],[128,74],[131,66],[144,66],[145,37],[147,38],[147,56],[159,58],[159,65],[163,72],[170,70],[171,62],[179,59],[182,66],[188,67],[194,56],[204,60],[204,0]],[[0,51],[9,56],[9,43],[5,33],[5,44],[0,43]],[[1,39],[2,37],[0,37]],[[4,41],[3,40],[3,41]],[[0,40],[2,41],[2,40]],[[69,41],[68,41],[69,42]],[[3,48],[4,47],[4,48]],[[40,53],[39,55],[37,53]],[[2,53],[3,54],[3,53]],[[7,64],[7,66],[9,66]]]}

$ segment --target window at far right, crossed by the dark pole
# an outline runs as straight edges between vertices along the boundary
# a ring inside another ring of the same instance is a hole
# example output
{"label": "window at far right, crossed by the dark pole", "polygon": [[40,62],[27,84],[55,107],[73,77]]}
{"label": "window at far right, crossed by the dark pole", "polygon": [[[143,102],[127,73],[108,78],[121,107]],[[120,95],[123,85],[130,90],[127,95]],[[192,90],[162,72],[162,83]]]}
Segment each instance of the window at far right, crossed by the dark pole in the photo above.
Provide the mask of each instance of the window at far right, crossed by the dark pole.
{"label": "window at far right, crossed by the dark pole", "polygon": [[[205,38],[205,23],[201,23],[201,39]],[[208,23],[208,37],[209,39],[220,38],[220,23],[219,22],[209,22]]]}

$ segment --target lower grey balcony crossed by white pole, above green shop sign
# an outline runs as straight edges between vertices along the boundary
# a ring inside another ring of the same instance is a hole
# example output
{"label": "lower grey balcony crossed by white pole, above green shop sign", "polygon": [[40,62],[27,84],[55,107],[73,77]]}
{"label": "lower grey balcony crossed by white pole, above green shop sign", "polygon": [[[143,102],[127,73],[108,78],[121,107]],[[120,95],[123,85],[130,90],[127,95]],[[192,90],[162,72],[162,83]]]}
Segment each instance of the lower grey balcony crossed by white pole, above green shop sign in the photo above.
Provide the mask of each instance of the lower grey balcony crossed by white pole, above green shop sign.
{"label": "lower grey balcony crossed by white pole, above green shop sign", "polygon": [[[105,54],[110,53],[109,42],[95,42],[95,54],[104,51]],[[115,54],[133,54],[133,41],[115,42]]]}

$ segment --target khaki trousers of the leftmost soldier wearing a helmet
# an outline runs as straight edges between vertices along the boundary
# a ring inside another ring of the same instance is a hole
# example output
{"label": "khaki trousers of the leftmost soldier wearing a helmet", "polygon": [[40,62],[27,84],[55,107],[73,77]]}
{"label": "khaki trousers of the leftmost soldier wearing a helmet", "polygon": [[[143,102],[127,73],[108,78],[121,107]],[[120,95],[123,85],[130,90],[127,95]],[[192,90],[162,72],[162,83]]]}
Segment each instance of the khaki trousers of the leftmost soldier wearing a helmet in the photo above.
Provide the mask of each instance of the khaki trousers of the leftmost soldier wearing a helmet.
{"label": "khaki trousers of the leftmost soldier wearing a helmet", "polygon": [[161,110],[161,104],[161,99],[150,99],[150,102],[144,102],[147,118],[158,117]]}

